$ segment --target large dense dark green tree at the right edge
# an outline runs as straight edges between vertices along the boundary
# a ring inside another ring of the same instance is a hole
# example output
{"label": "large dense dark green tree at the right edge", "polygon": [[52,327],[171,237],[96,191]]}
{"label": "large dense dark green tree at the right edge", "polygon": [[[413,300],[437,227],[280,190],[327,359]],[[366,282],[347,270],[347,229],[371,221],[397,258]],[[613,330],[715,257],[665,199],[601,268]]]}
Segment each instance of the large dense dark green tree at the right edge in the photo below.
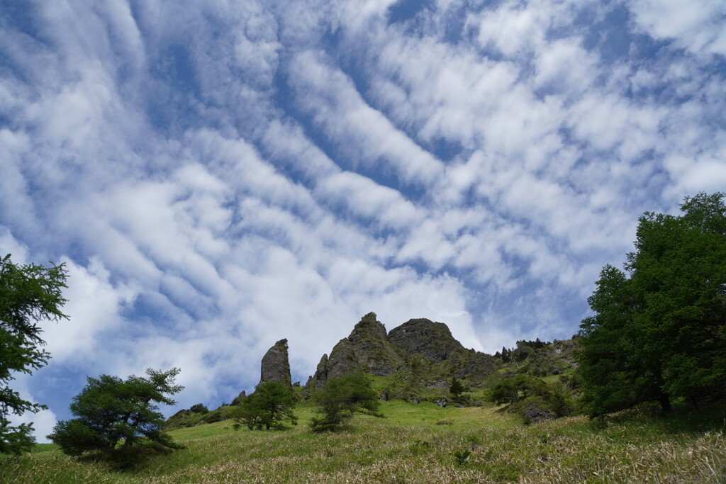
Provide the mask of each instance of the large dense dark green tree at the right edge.
{"label": "large dense dark green tree at the right edge", "polygon": [[725,194],[645,213],[625,271],[605,266],[579,355],[591,417],[646,401],[722,398],[726,388]]}

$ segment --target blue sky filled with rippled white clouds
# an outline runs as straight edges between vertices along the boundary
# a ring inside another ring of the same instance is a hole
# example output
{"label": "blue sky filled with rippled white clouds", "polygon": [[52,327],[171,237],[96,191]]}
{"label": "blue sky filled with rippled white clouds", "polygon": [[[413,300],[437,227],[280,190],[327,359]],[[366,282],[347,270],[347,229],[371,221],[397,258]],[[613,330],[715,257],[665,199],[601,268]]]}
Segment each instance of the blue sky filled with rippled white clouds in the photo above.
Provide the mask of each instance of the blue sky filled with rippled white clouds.
{"label": "blue sky filled with rippled white clouds", "polygon": [[370,311],[566,339],[645,211],[726,189],[719,0],[0,1],[0,253],[65,263],[12,387],[293,381]]}

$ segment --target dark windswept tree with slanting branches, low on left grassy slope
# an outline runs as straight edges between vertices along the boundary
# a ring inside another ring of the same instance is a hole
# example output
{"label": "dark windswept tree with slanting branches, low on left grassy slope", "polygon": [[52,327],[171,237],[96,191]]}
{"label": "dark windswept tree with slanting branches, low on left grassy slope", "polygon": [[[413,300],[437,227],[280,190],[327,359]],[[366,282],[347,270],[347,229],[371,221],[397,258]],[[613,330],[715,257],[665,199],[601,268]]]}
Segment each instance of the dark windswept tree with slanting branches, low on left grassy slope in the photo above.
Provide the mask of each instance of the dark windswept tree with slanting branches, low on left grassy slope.
{"label": "dark windswept tree with slanting branches, low on left grassy slope", "polygon": [[184,389],[174,385],[179,371],[147,369],[147,377],[131,375],[126,380],[107,374],[88,377],[86,386],[70,404],[76,418],[58,422],[48,438],[70,456],[87,451],[114,454],[122,442],[121,448],[150,442],[183,448],[161,430],[164,416],[156,405],[176,403],[168,395]]}

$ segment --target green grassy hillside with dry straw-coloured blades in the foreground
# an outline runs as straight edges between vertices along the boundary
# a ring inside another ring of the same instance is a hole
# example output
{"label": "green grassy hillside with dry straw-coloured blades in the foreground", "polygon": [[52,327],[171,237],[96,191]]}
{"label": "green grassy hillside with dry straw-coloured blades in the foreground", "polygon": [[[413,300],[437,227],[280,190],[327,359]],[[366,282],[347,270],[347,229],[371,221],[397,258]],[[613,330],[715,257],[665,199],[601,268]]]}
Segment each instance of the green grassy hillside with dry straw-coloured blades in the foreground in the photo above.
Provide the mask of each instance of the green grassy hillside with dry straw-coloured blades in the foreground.
{"label": "green grassy hillside with dry straw-coloured blades in the foreground", "polygon": [[[171,432],[187,449],[118,471],[52,445],[0,460],[2,483],[726,483],[723,409],[657,417],[648,408],[537,425],[497,407],[383,404],[386,419],[314,434],[312,409],[281,431],[216,422]],[[467,454],[468,453],[468,454]]]}

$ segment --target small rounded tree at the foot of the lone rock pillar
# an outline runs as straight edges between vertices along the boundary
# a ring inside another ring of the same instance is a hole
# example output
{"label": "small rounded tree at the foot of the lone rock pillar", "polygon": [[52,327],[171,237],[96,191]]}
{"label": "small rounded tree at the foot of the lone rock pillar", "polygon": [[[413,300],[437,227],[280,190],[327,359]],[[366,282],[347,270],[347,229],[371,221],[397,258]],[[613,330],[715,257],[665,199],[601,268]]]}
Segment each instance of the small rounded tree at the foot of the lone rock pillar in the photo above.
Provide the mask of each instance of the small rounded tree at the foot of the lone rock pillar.
{"label": "small rounded tree at the foot of the lone rock pillar", "polygon": [[250,430],[279,429],[282,422],[290,420],[298,424],[295,409],[295,394],[287,385],[270,380],[257,385],[255,393],[248,396],[234,409],[234,421],[245,424]]}

